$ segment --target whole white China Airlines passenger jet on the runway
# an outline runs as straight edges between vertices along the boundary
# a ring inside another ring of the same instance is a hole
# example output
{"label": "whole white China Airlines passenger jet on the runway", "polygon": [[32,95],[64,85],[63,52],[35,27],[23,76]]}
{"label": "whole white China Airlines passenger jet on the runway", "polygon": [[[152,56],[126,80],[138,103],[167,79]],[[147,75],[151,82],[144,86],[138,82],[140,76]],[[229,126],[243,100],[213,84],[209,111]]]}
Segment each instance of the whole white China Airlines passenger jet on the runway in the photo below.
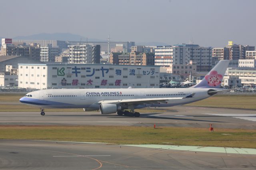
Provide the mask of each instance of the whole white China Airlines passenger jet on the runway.
{"label": "whole white China Airlines passenger jet on the runway", "polygon": [[190,88],[46,89],[27,93],[20,102],[39,107],[42,116],[45,108],[83,108],[140,117],[134,109],[184,105],[228,90],[220,89],[228,64],[229,60],[219,61],[200,83]]}

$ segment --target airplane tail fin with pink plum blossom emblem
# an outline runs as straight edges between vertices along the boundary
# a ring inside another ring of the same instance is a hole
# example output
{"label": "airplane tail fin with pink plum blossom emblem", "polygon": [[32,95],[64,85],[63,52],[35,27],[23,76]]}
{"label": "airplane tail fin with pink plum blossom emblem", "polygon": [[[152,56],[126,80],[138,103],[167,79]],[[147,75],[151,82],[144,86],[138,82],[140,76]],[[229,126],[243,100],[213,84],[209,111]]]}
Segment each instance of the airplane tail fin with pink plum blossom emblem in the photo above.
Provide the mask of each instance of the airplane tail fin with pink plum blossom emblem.
{"label": "airplane tail fin with pink plum blossom emblem", "polygon": [[220,60],[204,79],[192,88],[219,88],[228,64],[229,60]]}

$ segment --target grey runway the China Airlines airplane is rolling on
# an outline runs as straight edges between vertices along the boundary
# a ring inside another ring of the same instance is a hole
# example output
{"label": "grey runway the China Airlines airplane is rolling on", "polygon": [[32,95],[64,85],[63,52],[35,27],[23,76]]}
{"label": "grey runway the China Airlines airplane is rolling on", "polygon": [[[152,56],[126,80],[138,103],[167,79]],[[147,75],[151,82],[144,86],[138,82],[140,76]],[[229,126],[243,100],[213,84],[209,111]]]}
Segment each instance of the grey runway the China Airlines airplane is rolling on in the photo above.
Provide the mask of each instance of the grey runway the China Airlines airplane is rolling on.
{"label": "grey runway the China Airlines airplane is rolling on", "polygon": [[256,111],[176,106],[163,108],[164,113],[141,113],[141,117],[117,114],[100,115],[98,112],[56,113],[0,112],[0,125],[122,125],[208,128],[256,128]]}

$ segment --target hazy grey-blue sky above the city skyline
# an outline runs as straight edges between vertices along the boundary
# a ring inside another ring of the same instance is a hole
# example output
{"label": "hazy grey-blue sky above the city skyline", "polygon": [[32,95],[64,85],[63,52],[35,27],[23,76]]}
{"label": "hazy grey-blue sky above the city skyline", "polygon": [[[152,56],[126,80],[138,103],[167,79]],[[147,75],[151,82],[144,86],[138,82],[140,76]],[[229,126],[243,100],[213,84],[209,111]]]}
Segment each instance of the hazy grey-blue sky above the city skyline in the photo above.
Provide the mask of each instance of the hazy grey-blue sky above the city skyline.
{"label": "hazy grey-blue sky above the city skyline", "polygon": [[112,41],[256,45],[256,0],[5,0],[0,36],[72,33]]}

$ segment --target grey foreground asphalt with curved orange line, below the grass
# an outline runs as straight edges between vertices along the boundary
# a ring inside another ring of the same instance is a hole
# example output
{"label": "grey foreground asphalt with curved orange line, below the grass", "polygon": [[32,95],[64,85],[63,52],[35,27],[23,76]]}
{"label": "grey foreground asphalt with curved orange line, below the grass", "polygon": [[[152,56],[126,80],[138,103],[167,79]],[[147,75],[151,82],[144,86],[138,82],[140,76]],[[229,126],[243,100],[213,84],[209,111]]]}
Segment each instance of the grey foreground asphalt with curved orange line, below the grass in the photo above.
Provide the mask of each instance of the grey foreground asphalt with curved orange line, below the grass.
{"label": "grey foreground asphalt with curved orange line, below the grass", "polygon": [[255,169],[256,155],[111,144],[0,140],[1,170]]}

